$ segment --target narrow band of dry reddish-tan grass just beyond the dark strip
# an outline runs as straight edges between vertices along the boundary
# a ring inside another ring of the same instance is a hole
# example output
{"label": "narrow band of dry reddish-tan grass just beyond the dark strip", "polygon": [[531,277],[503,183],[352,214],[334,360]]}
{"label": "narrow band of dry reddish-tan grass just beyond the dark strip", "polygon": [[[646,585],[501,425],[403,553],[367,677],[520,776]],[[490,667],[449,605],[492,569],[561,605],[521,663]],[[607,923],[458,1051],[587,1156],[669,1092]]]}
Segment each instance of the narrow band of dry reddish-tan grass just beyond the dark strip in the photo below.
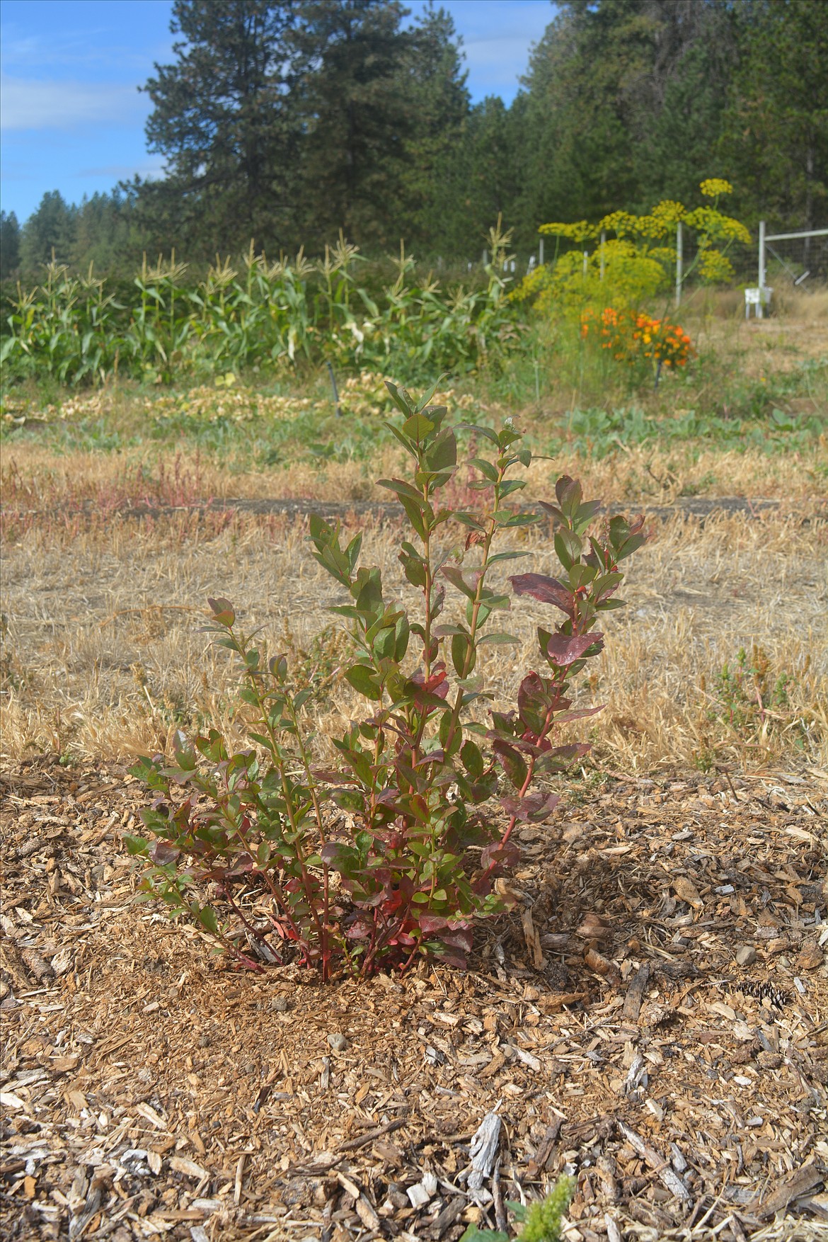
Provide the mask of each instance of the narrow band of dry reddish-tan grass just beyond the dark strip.
{"label": "narrow band of dry reddish-tan grass just beyond the dark strip", "polygon": [[[519,425],[531,432],[536,420],[528,415]],[[622,453],[596,460],[561,452],[538,460],[529,473],[528,501],[544,499],[561,473],[580,478],[587,493],[605,502],[634,505],[672,502],[679,496],[744,496],[803,501],[824,494],[828,473],[828,436],[812,452],[791,457],[758,450],[721,451],[714,446],[677,443],[669,448],[633,446]],[[324,467],[295,463],[286,469],[228,469],[218,458],[205,460],[181,451],[171,460],[146,463],[113,458],[96,452],[56,457],[48,448],[19,443],[4,455],[4,530],[14,535],[32,524],[74,539],[88,528],[78,509],[91,504],[98,525],[108,527],[113,514],[135,504],[191,505],[199,501],[286,499],[382,501],[386,489],[372,479],[398,473],[400,455],[391,447],[379,451],[369,465],[331,462]],[[462,484],[458,484],[462,486]]]}

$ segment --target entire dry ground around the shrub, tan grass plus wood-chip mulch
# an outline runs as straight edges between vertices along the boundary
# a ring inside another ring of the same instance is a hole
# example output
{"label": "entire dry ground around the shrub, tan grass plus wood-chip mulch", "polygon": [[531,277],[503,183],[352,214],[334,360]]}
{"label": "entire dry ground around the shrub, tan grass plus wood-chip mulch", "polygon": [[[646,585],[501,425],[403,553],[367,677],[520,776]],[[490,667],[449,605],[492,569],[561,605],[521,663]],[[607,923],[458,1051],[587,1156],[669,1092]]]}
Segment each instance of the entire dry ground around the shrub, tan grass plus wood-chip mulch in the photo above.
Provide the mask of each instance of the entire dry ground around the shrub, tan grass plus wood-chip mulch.
{"label": "entire dry ground around the shrub, tan grass plus wood-chip mulch", "polygon": [[[824,307],[807,309],[792,296],[740,329],[745,375],[818,364]],[[822,384],[780,420],[824,421]],[[521,503],[566,471],[646,512],[650,538],[580,689],[605,708],[566,727],[593,749],[550,821],[521,830],[511,913],[480,927],[466,972],[325,987],[297,966],[238,972],[135,904],[120,838],[148,795],[127,770],[179,729],[241,737],[207,595],[313,681],[333,758],[358,704],[307,513],[362,529],[406,599],[374,482],[395,450],[294,452],[286,435],[268,461],[258,422],[218,437],[230,417],[153,447],[142,428],[175,396],[10,399],[2,1237],[454,1242],[561,1171],[567,1242],[827,1236],[828,424],[786,447],[780,421],[771,452],[725,432],[633,441],[600,419],[577,431],[562,392],[461,388],[458,419],[510,416],[540,450],[556,428]],[[343,437],[370,440],[370,420]],[[520,538],[554,573],[549,527]],[[520,645],[487,657],[495,707],[545,620],[514,602]],[[493,1112],[499,1159],[474,1190],[469,1144]]]}

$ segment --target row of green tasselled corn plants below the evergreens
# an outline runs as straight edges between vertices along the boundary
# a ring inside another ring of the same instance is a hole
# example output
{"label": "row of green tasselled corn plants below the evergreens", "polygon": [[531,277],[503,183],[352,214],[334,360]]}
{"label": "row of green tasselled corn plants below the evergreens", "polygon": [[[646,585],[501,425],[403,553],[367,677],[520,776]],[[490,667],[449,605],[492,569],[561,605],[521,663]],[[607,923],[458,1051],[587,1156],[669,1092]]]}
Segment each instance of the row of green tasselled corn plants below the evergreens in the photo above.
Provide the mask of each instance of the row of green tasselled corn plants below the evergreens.
{"label": "row of green tasselled corn plants below the evergreens", "polygon": [[400,246],[397,274],[381,297],[358,283],[362,256],[340,233],[312,263],[271,263],[251,243],[242,273],[216,257],[207,276],[187,284],[187,266],[146,258],[132,306],[114,302],[89,271],[84,279],[50,265],[34,293],[19,289],[2,340],[12,376],[46,370],[62,383],[101,381],[115,369],[171,381],[194,368],[220,374],[302,360],[339,369],[469,371],[511,349],[519,330],[505,297],[508,235],[492,231],[484,289],[443,289],[431,273],[415,277]]}

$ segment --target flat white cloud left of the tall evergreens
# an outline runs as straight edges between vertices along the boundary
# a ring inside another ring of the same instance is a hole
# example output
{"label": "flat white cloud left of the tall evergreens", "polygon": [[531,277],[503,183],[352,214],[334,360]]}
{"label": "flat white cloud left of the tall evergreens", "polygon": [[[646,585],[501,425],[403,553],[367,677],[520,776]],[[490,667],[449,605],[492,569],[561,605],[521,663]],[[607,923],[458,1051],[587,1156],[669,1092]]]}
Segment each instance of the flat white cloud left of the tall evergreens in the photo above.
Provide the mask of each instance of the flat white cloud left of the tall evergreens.
{"label": "flat white cloud left of the tall evergreens", "polygon": [[118,124],[146,111],[133,86],[11,77],[0,84],[0,128],[7,132]]}

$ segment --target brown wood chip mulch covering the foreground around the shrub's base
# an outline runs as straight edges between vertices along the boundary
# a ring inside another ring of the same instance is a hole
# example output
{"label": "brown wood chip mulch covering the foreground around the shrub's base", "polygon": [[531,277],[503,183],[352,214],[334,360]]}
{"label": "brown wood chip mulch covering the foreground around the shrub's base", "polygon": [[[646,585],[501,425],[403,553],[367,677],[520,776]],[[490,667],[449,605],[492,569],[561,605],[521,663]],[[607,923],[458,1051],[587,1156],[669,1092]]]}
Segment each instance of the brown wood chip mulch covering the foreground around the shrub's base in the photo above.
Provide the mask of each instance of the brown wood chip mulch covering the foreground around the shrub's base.
{"label": "brown wood chip mulch covering the foreground around the shrub's base", "polygon": [[133,900],[124,769],[2,794],[2,1238],[453,1242],[564,1170],[567,1242],[828,1238],[828,773],[574,794],[467,972],[325,987]]}

